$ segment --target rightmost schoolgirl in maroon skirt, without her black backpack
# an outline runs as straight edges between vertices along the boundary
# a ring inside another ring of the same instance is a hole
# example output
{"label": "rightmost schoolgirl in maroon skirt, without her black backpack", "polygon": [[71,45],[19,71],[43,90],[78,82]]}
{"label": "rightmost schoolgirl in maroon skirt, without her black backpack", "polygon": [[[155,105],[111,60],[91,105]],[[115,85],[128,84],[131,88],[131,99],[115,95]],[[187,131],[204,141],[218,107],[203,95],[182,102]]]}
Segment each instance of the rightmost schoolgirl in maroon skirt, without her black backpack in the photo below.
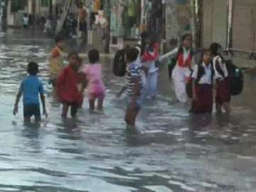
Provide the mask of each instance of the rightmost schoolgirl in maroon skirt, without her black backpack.
{"label": "rightmost schoolgirl in maroon skirt, without her black backpack", "polygon": [[230,87],[228,83],[228,69],[225,60],[221,55],[221,46],[218,43],[210,45],[210,52],[213,55],[214,78],[216,80],[216,110],[222,112],[223,106],[226,113],[230,113]]}

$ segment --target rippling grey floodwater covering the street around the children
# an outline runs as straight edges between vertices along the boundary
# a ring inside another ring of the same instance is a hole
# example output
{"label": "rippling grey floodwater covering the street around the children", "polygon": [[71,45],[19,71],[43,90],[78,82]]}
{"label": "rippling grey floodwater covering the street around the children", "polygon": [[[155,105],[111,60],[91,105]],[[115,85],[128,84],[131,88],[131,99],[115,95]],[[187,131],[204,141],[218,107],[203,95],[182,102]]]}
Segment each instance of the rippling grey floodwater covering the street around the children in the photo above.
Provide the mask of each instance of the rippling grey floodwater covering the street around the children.
{"label": "rippling grey floodwater covering the street around the children", "polygon": [[[47,56],[53,42],[22,31],[0,33],[0,191],[256,191],[256,91],[234,97],[230,117],[191,116],[178,104],[161,69],[159,99],[139,115],[141,134],[125,132],[124,84],[105,65],[104,114],[90,114],[85,102],[78,119],[60,118],[60,105],[47,84]],[[48,119],[24,125],[22,105],[12,110],[28,60],[40,63]]]}

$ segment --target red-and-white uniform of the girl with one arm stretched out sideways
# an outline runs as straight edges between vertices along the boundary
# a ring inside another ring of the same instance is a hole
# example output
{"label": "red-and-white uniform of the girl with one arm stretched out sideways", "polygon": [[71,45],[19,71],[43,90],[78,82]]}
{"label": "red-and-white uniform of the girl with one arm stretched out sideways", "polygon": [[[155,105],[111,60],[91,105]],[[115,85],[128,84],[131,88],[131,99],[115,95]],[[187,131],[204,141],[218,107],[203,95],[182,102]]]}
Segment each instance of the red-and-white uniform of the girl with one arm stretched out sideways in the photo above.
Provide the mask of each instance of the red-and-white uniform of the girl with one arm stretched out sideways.
{"label": "red-and-white uniform of the girl with one arm stretched out sideways", "polygon": [[181,53],[178,53],[176,66],[172,72],[174,80],[174,90],[179,102],[187,102],[186,82],[191,75],[191,65],[193,63],[193,55],[191,50],[183,48]]}

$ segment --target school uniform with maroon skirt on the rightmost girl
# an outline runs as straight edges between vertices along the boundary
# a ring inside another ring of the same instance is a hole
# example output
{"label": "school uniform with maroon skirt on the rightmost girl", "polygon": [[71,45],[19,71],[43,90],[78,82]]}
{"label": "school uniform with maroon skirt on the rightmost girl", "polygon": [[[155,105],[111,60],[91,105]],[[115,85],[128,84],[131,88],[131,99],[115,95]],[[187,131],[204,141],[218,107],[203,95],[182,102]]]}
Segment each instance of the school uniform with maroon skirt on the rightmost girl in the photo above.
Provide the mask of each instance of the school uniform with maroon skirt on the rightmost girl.
{"label": "school uniform with maroon skirt on the rightmost girl", "polygon": [[[214,78],[216,80],[215,102],[223,105],[224,102],[230,102],[230,87],[228,83],[228,69],[220,56],[213,58]],[[220,73],[221,72],[221,73]]]}

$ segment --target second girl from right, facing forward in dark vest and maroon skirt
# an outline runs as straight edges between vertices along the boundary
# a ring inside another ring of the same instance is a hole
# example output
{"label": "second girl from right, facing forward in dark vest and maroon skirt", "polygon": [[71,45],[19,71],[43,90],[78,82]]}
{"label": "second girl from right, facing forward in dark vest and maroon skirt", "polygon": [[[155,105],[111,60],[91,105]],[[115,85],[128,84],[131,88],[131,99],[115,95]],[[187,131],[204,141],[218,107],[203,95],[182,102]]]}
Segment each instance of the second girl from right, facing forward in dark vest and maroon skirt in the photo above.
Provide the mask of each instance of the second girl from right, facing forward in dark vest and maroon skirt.
{"label": "second girl from right, facing forward in dark vest and maroon skirt", "polygon": [[202,60],[193,73],[192,113],[211,113],[213,110],[213,65],[210,50],[203,51]]}

